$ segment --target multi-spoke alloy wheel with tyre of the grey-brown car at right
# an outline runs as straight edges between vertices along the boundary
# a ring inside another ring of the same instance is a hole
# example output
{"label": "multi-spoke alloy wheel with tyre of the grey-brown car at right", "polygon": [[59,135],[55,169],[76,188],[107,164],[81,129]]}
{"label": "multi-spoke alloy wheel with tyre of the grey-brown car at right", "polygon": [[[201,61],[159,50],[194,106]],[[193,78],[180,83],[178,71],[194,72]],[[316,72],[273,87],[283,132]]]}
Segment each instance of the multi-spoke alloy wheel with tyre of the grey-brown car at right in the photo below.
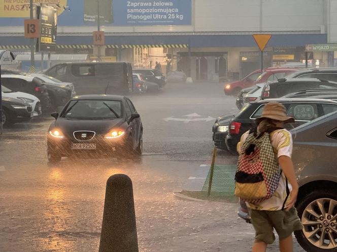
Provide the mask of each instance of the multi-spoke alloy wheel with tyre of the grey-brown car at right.
{"label": "multi-spoke alloy wheel with tyre of the grey-brown car at right", "polygon": [[337,250],[337,195],[317,190],[305,195],[297,204],[304,228],[295,231],[298,243],[309,252]]}

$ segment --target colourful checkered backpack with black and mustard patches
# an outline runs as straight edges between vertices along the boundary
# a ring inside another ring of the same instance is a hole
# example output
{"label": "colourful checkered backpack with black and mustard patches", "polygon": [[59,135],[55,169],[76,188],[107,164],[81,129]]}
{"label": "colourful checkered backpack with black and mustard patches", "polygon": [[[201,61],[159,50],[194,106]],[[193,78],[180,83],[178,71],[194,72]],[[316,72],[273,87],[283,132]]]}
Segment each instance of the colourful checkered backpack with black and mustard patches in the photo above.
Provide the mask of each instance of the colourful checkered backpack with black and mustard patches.
{"label": "colourful checkered backpack with black and mustard patches", "polygon": [[274,194],[279,186],[281,169],[269,134],[270,129],[257,136],[251,130],[243,143],[235,173],[235,195],[250,203],[264,201]]}

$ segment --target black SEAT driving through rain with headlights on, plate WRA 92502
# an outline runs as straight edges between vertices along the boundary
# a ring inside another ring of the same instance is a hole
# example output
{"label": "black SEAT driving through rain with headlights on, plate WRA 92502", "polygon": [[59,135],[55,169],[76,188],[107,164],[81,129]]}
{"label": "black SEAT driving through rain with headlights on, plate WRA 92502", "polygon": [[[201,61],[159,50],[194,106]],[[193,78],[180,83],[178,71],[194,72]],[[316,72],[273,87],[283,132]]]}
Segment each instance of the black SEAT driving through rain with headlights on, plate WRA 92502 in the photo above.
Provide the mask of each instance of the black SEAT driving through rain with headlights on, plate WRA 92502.
{"label": "black SEAT driving through rain with headlights on, plate WRA 92502", "polygon": [[52,113],[47,138],[48,161],[64,156],[132,157],[143,149],[143,125],[124,96],[84,95],[72,98],[61,113]]}

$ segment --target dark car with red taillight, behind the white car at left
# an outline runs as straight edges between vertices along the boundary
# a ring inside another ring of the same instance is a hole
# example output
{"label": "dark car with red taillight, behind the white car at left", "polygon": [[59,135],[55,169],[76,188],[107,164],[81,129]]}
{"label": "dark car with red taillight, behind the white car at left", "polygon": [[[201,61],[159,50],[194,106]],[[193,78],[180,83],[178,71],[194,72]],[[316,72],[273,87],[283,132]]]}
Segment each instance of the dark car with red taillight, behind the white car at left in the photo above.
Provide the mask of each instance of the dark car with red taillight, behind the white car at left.
{"label": "dark car with red taillight, behind the white car at left", "polygon": [[31,75],[4,74],[1,78],[2,86],[15,91],[36,96],[43,110],[51,106],[47,87],[38,78]]}

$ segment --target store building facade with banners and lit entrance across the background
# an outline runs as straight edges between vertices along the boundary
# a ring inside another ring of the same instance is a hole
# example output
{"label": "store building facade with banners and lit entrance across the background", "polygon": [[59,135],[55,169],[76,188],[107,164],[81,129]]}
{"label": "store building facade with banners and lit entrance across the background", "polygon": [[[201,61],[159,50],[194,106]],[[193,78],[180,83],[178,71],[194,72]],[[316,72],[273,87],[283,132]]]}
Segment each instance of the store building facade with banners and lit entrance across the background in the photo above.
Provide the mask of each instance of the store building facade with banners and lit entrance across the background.
{"label": "store building facade with banners and lit entrance across the background", "polygon": [[[59,11],[56,53],[94,56],[92,1],[58,1],[72,11]],[[28,12],[0,8],[0,49],[28,51],[29,40],[23,37]],[[193,79],[235,79],[258,69],[254,33],[273,35],[264,51],[265,67],[301,63],[306,45],[337,42],[337,0],[101,0],[101,8],[111,10],[101,16],[106,60],[129,61],[134,67],[154,67],[158,61],[163,72],[171,61]],[[309,60],[335,66],[336,56],[311,51]]]}

